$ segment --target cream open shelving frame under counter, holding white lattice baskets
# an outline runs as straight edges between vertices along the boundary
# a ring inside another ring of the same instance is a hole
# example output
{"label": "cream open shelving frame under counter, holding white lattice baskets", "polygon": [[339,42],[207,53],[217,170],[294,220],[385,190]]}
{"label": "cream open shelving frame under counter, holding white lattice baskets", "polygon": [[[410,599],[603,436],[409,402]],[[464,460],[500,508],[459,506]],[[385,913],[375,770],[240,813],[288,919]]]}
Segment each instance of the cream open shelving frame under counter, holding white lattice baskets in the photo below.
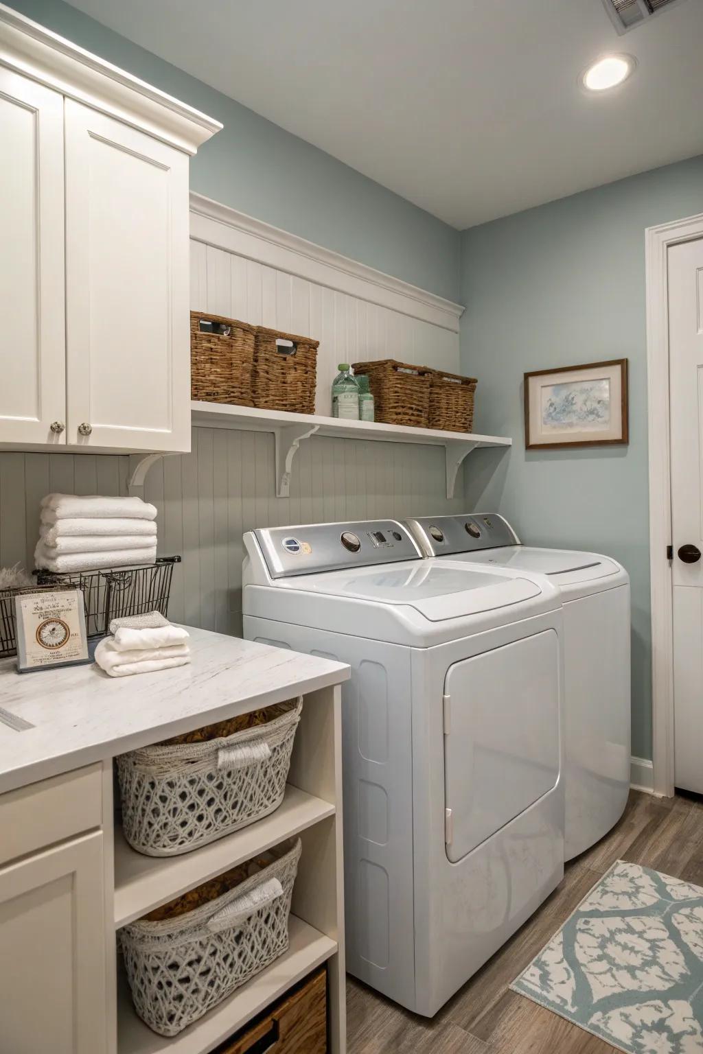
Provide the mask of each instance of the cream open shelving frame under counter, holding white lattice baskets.
{"label": "cream open shelving frame under counter, holding white lattice baskets", "polygon": [[[105,779],[112,787],[110,769]],[[113,963],[116,931],[153,907],[288,838],[299,837],[302,853],[285,955],[174,1037],[157,1035],[139,1019],[121,976],[113,1003],[116,1046],[109,1054],[209,1054],[321,963],[327,963],[329,1051],[345,1054],[340,801],[341,695],[336,685],[305,695],[288,785],[275,813],[176,857],[143,856],[115,826],[114,865],[112,859],[108,863],[114,875]],[[111,972],[114,976],[114,965]]]}

